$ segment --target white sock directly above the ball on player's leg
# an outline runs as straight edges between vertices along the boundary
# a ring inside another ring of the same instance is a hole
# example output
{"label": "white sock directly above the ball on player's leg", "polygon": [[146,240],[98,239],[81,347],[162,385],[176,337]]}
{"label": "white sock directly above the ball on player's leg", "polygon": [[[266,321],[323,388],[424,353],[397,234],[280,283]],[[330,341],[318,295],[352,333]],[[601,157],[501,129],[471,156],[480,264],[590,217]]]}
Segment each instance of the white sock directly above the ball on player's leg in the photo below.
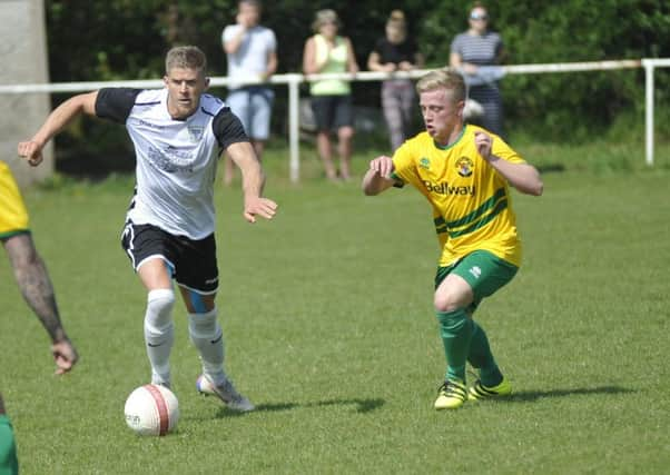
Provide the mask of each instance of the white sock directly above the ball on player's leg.
{"label": "white sock directly above the ball on player's leg", "polygon": [[170,384],[170,352],[175,340],[173,307],[175,293],[169,288],[150,290],[145,314],[145,343],[151,363],[151,383]]}

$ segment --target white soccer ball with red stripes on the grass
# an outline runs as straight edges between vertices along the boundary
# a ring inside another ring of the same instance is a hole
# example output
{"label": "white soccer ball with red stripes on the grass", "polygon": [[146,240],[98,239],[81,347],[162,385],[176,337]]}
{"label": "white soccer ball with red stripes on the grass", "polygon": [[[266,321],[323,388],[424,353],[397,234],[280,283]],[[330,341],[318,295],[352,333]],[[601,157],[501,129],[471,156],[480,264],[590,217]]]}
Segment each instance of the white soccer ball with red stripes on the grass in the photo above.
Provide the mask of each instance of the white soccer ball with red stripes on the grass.
{"label": "white soccer ball with red stripes on the grass", "polygon": [[146,384],[126,399],[126,424],[139,435],[166,435],[177,427],[179,403],[165,386]]}

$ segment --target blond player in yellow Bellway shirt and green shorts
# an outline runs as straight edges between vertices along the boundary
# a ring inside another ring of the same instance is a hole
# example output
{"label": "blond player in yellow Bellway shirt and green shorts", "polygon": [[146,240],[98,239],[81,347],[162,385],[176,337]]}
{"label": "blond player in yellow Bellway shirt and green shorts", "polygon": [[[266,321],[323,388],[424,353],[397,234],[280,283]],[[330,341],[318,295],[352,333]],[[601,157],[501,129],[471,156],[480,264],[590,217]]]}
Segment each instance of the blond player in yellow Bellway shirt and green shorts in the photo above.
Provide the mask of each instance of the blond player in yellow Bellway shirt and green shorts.
{"label": "blond player in yellow Bellway shirt and green shorts", "polygon": [[[416,83],[425,131],[407,140],[393,158],[370,162],[363,191],[374,196],[404,185],[431,204],[442,249],[435,276],[434,308],[446,357],[436,409],[465,400],[512,393],[484,329],[472,315],[480,301],[508,284],[521,264],[509,185],[540,196],[542,180],[500,137],[464,122],[466,89],[450,69],[431,71]],[[465,364],[480,378],[465,385]]]}

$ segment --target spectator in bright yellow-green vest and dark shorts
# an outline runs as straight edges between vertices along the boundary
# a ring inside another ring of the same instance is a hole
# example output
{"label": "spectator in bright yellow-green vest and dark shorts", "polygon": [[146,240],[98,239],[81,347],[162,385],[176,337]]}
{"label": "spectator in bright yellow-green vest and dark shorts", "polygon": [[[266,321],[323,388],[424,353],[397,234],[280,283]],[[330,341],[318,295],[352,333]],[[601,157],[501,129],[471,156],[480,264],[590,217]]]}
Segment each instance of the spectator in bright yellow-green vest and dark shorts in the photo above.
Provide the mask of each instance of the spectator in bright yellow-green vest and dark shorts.
{"label": "spectator in bright yellow-green vest and dark shorts", "polygon": [[[303,72],[305,75],[328,72],[358,72],[352,41],[337,34],[339,19],[335,11],[326,9],[316,12],[312,24],[314,36],[305,42]],[[333,164],[331,132],[337,131],[339,155],[339,178],[352,176],[352,140],[354,137],[354,113],[349,81],[344,79],[318,79],[311,82],[312,110],[316,121],[316,144],[324,164],[326,178],[337,180]]]}

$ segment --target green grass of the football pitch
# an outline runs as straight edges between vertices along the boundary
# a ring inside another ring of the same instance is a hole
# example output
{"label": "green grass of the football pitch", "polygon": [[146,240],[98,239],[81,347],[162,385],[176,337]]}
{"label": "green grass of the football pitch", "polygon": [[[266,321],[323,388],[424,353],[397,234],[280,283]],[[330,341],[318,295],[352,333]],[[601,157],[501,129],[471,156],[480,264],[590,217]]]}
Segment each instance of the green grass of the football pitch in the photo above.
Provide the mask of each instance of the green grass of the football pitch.
{"label": "green grass of the football pitch", "polygon": [[178,306],[181,419],[162,438],[135,436],[122,414],[148,378],[146,297],[118,239],[132,179],[29,190],[81,362],[51,376],[47,336],[0,259],[0,390],[22,473],[667,473],[668,159],[647,170],[618,167],[615,150],[598,158],[598,145],[520,150],[566,171],[545,174],[541,198],[515,195],[524,265],[476,314],[511,399],[432,409],[444,373],[437,247],[418,194],[332,186],[309,150],[305,180],[290,185],[277,152],[266,157],[273,222],[247,225],[237,189],[216,195],[227,368],[259,410],[238,416],[196,395]]}

